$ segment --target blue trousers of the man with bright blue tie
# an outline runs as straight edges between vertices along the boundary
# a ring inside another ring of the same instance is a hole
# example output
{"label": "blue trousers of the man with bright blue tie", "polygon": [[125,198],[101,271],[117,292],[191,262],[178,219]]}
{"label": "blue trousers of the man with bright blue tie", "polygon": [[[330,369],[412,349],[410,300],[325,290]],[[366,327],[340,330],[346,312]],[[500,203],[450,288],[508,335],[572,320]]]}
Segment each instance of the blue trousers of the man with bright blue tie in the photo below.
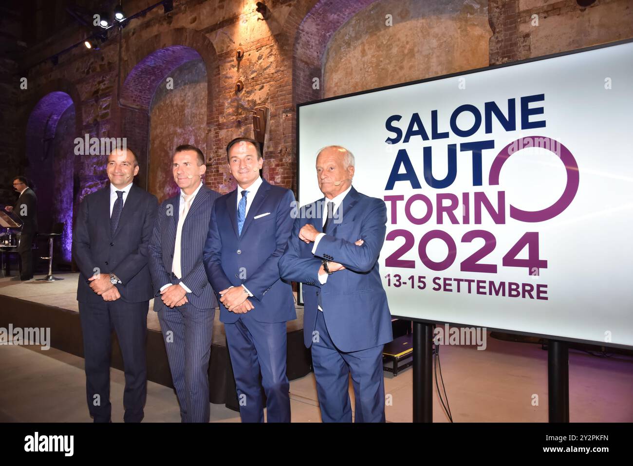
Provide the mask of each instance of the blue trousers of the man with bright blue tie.
{"label": "blue trousers of the man with bright blue tie", "polygon": [[264,422],[261,387],[268,422],[290,422],[285,322],[258,322],[247,312],[234,324],[224,324],[224,329],[242,422]]}

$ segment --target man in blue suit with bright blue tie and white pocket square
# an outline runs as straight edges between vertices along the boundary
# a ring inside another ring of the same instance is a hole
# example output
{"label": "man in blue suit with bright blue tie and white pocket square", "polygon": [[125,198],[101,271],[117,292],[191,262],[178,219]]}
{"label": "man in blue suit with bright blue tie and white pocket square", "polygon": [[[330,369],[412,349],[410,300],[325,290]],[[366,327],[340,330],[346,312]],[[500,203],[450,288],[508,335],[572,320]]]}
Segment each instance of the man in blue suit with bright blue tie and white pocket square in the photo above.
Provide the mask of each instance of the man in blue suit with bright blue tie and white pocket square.
{"label": "man in blue suit with bright blue tie and white pocket square", "polygon": [[279,278],[277,263],[292,228],[294,195],[261,179],[263,158],[256,141],[234,139],[227,158],[238,186],[213,207],[204,267],[222,296],[220,320],[242,422],[263,422],[261,386],[268,422],[290,422],[286,322],[297,315],[292,287]]}

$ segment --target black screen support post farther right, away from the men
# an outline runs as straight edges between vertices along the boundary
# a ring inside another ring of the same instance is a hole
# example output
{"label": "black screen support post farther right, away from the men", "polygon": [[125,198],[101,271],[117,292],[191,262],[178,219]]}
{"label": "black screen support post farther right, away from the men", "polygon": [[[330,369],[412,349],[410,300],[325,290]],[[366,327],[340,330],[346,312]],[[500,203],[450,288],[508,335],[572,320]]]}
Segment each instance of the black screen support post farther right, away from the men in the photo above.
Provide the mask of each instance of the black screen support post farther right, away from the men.
{"label": "black screen support post farther right, away from the men", "polygon": [[567,343],[548,341],[549,422],[569,422],[569,352]]}

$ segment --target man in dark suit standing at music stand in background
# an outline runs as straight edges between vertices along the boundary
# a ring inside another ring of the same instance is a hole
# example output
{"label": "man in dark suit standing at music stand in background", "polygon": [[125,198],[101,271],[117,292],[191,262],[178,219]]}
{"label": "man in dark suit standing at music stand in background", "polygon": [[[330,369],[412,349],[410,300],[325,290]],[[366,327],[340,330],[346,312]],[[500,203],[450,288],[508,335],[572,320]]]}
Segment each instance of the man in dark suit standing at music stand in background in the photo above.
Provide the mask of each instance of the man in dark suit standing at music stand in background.
{"label": "man in dark suit standing at music stand in background", "polygon": [[37,196],[30,187],[27,186],[27,179],[18,176],[13,179],[13,189],[20,193],[20,197],[15,206],[5,208],[8,212],[22,220],[22,231],[20,233],[20,280],[30,280],[33,278],[33,238],[37,234]]}

